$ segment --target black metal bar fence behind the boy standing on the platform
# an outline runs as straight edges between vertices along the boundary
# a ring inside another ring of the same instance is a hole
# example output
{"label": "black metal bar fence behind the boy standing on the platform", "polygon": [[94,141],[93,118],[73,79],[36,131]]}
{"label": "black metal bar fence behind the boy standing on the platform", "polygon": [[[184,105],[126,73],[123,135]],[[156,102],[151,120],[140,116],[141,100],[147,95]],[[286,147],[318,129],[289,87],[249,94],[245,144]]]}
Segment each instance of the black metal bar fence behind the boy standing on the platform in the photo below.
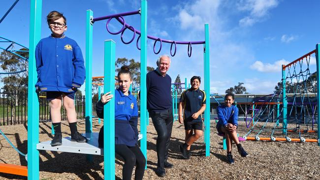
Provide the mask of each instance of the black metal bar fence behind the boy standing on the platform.
{"label": "black metal bar fence behind the boy standing on the platform", "polygon": [[[92,100],[93,117],[96,116],[97,95]],[[77,119],[85,118],[85,96],[76,95],[74,99]],[[61,119],[67,120],[64,106],[61,108]],[[0,91],[0,125],[23,124],[28,121],[28,94]],[[50,103],[45,93],[39,95],[39,121],[51,121]]]}

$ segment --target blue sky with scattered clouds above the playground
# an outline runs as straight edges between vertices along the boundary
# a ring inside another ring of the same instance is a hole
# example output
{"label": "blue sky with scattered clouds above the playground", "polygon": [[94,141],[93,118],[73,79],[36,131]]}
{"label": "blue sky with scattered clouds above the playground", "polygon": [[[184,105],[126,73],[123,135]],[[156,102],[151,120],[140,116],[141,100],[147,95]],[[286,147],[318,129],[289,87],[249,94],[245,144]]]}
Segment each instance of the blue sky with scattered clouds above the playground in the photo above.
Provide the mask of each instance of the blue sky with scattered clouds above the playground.
{"label": "blue sky with scattered clouds above the playground", "polygon": [[[15,0],[2,0],[0,17]],[[0,24],[0,36],[29,47],[30,0],[20,0]],[[50,35],[46,15],[57,10],[67,18],[66,35],[75,39],[85,56],[86,10],[94,17],[135,11],[140,0],[43,0],[41,37]],[[224,91],[244,83],[250,93],[272,93],[281,80],[281,64],[287,64],[315,49],[319,43],[319,0],[149,0],[148,34],[162,39],[204,40],[204,24],[210,24],[210,92]],[[140,30],[140,16],[125,17],[126,23]],[[93,76],[103,75],[103,42],[116,42],[116,58],[139,60],[135,40],[125,45],[120,34],[107,32],[106,20],[94,24]],[[111,30],[120,30],[112,20]],[[132,32],[125,32],[125,39]],[[136,36],[137,38],[137,36]],[[148,66],[156,67],[159,55],[148,40]],[[160,54],[170,54],[163,44]],[[314,59],[314,58],[313,58]],[[315,65],[314,65],[315,66]],[[203,77],[203,47],[178,45],[168,71],[172,81],[180,74],[182,82],[193,75]],[[203,86],[202,86],[203,88]],[[83,88],[82,88],[83,89]],[[84,91],[84,90],[83,90]]]}

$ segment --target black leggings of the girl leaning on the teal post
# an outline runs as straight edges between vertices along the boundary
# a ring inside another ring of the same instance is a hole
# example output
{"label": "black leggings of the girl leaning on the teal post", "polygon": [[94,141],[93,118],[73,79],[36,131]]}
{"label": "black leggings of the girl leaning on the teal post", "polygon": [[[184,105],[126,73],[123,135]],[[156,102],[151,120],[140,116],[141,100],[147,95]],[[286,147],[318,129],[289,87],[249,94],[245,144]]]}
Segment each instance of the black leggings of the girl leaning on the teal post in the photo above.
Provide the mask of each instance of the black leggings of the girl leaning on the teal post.
{"label": "black leggings of the girl leaning on the teal post", "polygon": [[142,154],[139,146],[128,147],[127,145],[115,145],[115,151],[125,160],[122,179],[131,180],[133,167],[136,165],[134,180],[142,180],[146,167],[146,158]]}

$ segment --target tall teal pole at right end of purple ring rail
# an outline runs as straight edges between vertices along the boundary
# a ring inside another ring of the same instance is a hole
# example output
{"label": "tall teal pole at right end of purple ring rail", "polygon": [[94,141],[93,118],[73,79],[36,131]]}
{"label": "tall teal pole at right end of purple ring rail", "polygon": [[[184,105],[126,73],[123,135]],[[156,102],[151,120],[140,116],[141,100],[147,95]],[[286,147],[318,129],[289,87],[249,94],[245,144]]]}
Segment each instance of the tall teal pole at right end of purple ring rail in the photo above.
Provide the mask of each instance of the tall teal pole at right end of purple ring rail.
{"label": "tall teal pole at right end of purple ring rail", "polygon": [[206,156],[210,156],[210,47],[209,47],[209,24],[204,25],[205,33],[205,59],[204,59],[204,83],[206,93],[206,109],[204,111],[204,120],[206,124]]}

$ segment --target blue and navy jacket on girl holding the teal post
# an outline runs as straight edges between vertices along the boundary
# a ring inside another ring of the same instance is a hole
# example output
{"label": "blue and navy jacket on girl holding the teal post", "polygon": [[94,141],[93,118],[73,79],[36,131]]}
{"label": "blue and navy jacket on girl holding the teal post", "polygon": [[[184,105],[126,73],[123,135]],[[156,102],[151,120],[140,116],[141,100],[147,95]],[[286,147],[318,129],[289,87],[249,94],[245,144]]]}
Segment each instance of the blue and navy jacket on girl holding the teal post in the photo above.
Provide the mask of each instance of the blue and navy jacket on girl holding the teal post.
{"label": "blue and navy jacket on girl holding the teal post", "polygon": [[[129,91],[123,94],[120,89],[115,90],[115,144],[124,144],[134,147],[138,143],[138,105],[136,98]],[[96,114],[103,119],[104,104],[99,100],[96,103]],[[103,148],[103,126],[99,132],[99,147]]]}

